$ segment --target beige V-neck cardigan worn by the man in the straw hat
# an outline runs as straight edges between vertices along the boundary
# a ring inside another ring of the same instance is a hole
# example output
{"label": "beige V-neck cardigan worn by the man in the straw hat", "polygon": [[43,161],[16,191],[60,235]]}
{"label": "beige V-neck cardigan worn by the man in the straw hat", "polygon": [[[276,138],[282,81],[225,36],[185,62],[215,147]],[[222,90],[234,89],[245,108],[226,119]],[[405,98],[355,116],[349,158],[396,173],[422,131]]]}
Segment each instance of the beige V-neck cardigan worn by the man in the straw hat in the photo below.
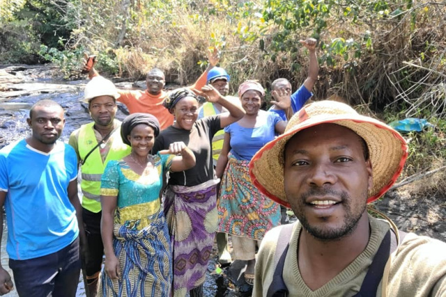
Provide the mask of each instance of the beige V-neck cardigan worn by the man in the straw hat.
{"label": "beige V-neck cardigan worn by the man in the straw hat", "polygon": [[[299,272],[298,239],[302,225],[295,223],[289,250],[286,254],[283,278],[289,289],[289,297],[351,297],[360,290],[367,269],[378,251],[390,225],[385,220],[369,216],[371,235],[365,250],[330,282],[312,291],[302,280]],[[274,252],[281,227],[266,234],[258,259],[252,296],[266,296],[275,271]],[[381,283],[376,296],[381,296]],[[407,234],[397,250],[387,284],[389,297],[446,296],[446,243],[426,236]]]}

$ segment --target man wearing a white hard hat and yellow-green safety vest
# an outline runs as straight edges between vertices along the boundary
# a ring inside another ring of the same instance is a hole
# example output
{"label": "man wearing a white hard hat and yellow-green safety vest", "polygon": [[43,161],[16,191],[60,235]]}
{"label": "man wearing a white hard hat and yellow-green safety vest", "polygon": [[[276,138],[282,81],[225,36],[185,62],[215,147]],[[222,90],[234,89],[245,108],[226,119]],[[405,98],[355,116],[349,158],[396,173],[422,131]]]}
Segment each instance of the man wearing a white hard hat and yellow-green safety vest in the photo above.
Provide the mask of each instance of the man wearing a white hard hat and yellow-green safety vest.
{"label": "man wearing a white hard hat and yellow-green safety vest", "polygon": [[116,120],[116,87],[103,77],[93,77],[84,91],[93,122],[72,132],[68,142],[74,147],[82,172],[82,216],[89,244],[86,279],[90,296],[96,296],[104,246],[100,236],[100,179],[110,160],[119,160],[130,153],[121,139],[121,122]]}

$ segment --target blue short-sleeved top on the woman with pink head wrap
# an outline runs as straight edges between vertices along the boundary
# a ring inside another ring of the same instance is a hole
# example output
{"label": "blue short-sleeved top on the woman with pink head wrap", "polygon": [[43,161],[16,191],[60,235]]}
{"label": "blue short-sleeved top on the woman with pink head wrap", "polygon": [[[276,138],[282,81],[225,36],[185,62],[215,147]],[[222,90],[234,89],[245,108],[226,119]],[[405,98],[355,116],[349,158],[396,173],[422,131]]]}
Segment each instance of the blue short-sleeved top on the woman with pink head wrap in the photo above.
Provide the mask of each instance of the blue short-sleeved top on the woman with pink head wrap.
{"label": "blue short-sleeved top on the woman with pink head wrap", "polygon": [[259,127],[245,128],[234,122],[224,128],[226,133],[231,134],[231,153],[238,160],[251,161],[254,154],[275,137],[275,126],[282,118],[269,111],[259,113],[264,113],[264,122]]}

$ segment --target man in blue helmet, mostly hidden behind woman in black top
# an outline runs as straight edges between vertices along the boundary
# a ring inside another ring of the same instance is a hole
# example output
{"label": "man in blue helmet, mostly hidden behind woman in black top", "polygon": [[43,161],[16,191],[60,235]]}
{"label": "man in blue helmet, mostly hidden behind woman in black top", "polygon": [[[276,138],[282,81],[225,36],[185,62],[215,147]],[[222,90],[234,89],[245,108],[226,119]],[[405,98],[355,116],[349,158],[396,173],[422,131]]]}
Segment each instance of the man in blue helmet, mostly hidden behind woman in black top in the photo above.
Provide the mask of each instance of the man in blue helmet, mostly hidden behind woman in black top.
{"label": "man in blue helmet, mostly hidden behind woman in black top", "polygon": [[[208,71],[208,84],[216,88],[220,94],[224,97],[233,99],[234,102],[238,102],[237,97],[228,96],[229,93],[229,74],[222,67],[213,67],[213,69]],[[198,118],[206,118],[210,115],[217,115],[219,113],[226,112],[223,106],[218,103],[206,102],[204,103],[199,111]],[[221,129],[218,131],[212,140],[212,151],[213,151],[213,161],[214,166],[217,165],[218,156],[223,147],[224,131]],[[217,246],[218,246],[218,257],[220,264],[227,265],[231,264],[231,254],[227,250],[228,246],[228,235],[226,233],[217,233]]]}

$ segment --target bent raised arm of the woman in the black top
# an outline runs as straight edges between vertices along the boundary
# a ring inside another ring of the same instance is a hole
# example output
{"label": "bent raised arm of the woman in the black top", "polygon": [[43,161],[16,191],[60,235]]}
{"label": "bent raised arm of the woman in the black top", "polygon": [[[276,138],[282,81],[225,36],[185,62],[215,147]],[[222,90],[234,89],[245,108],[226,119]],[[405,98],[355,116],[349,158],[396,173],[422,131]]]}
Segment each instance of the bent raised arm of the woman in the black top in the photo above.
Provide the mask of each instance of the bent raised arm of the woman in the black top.
{"label": "bent raised arm of the woman in the black top", "polygon": [[231,125],[233,122],[237,122],[243,115],[245,111],[243,110],[241,104],[236,104],[230,99],[222,96],[213,86],[206,85],[201,88],[203,95],[206,97],[208,102],[215,102],[223,106],[229,111],[229,113],[220,114],[220,128],[223,129],[226,126]]}

